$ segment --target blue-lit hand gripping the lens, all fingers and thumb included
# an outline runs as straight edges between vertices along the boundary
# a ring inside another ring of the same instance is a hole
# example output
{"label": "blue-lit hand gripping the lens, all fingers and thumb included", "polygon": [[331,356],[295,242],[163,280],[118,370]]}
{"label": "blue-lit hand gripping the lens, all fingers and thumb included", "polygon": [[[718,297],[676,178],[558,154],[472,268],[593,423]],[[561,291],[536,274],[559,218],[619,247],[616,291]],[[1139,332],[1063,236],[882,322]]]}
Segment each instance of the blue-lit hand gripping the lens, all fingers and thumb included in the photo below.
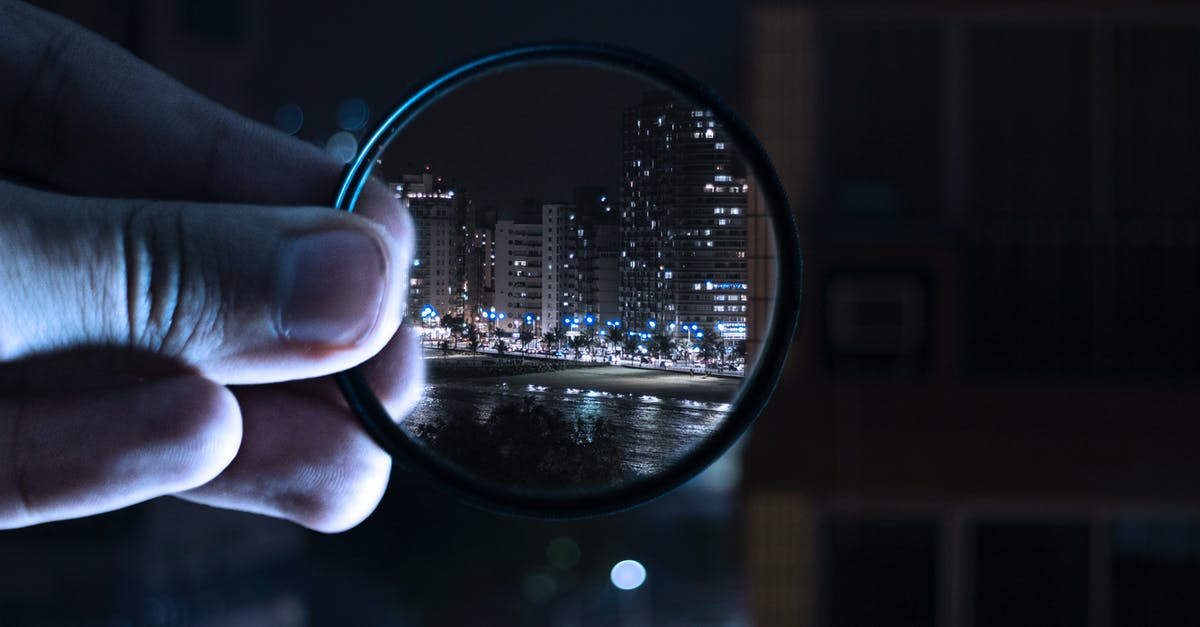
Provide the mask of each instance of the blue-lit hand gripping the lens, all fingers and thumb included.
{"label": "blue-lit hand gripping the lens, all fingers and thumb included", "polygon": [[408,214],[330,209],[324,153],[58,17],[0,32],[0,529],[169,494],[361,521],[390,459],[316,377],[378,353],[415,402]]}

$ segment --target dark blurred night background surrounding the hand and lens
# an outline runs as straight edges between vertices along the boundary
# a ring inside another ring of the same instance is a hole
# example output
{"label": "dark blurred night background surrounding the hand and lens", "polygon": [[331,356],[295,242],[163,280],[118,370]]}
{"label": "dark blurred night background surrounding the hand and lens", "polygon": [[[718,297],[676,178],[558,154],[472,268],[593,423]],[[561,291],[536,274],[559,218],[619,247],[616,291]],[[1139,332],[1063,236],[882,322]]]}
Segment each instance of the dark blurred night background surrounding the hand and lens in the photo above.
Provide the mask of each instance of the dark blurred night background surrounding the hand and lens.
{"label": "dark blurred night background surrounding the hand and lens", "polygon": [[503,44],[642,49],[762,138],[805,299],[744,449],[649,506],[528,521],[397,473],[318,536],[160,500],[0,536],[0,623],[1200,622],[1200,11],[43,4],[322,145],[346,98]]}

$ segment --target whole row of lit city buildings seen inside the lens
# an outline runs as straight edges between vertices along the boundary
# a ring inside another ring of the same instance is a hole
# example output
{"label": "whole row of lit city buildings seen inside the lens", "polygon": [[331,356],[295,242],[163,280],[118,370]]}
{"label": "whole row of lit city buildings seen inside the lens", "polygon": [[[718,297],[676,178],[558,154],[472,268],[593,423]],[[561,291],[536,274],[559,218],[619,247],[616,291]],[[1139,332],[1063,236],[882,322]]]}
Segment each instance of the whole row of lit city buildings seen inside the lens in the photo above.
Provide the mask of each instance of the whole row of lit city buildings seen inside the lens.
{"label": "whole row of lit city buildings seen inside the lens", "polygon": [[410,316],[512,333],[746,339],[749,183],[724,129],[662,92],[619,115],[616,192],[575,185],[570,202],[497,210],[452,172],[425,166],[394,180],[416,223]]}

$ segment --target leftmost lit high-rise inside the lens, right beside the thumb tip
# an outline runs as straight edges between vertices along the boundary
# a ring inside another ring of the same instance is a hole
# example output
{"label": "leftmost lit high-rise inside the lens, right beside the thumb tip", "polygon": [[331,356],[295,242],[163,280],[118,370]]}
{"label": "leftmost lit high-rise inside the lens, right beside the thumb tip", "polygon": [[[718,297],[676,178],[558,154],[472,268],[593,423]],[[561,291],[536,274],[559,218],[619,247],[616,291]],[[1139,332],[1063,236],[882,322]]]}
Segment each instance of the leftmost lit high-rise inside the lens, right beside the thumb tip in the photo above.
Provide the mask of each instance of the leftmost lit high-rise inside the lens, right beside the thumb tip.
{"label": "leftmost lit high-rise inside the lens, right beside the thumb tip", "polygon": [[416,229],[408,280],[409,316],[461,316],[464,238],[455,190],[427,168],[403,174],[391,187],[408,204]]}

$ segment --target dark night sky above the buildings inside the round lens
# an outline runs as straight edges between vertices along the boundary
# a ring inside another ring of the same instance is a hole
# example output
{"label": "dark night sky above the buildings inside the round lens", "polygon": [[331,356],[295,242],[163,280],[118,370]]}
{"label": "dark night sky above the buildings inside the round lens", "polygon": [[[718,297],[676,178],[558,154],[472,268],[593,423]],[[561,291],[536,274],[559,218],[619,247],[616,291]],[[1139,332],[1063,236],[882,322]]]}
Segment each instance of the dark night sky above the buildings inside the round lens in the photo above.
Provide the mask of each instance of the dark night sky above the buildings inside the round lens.
{"label": "dark night sky above the buildings inside the round lens", "polygon": [[526,198],[570,202],[578,185],[620,181],[622,111],[652,83],[582,65],[546,65],[468,83],[422,112],[383,156],[382,173],[430,166],[480,209]]}

